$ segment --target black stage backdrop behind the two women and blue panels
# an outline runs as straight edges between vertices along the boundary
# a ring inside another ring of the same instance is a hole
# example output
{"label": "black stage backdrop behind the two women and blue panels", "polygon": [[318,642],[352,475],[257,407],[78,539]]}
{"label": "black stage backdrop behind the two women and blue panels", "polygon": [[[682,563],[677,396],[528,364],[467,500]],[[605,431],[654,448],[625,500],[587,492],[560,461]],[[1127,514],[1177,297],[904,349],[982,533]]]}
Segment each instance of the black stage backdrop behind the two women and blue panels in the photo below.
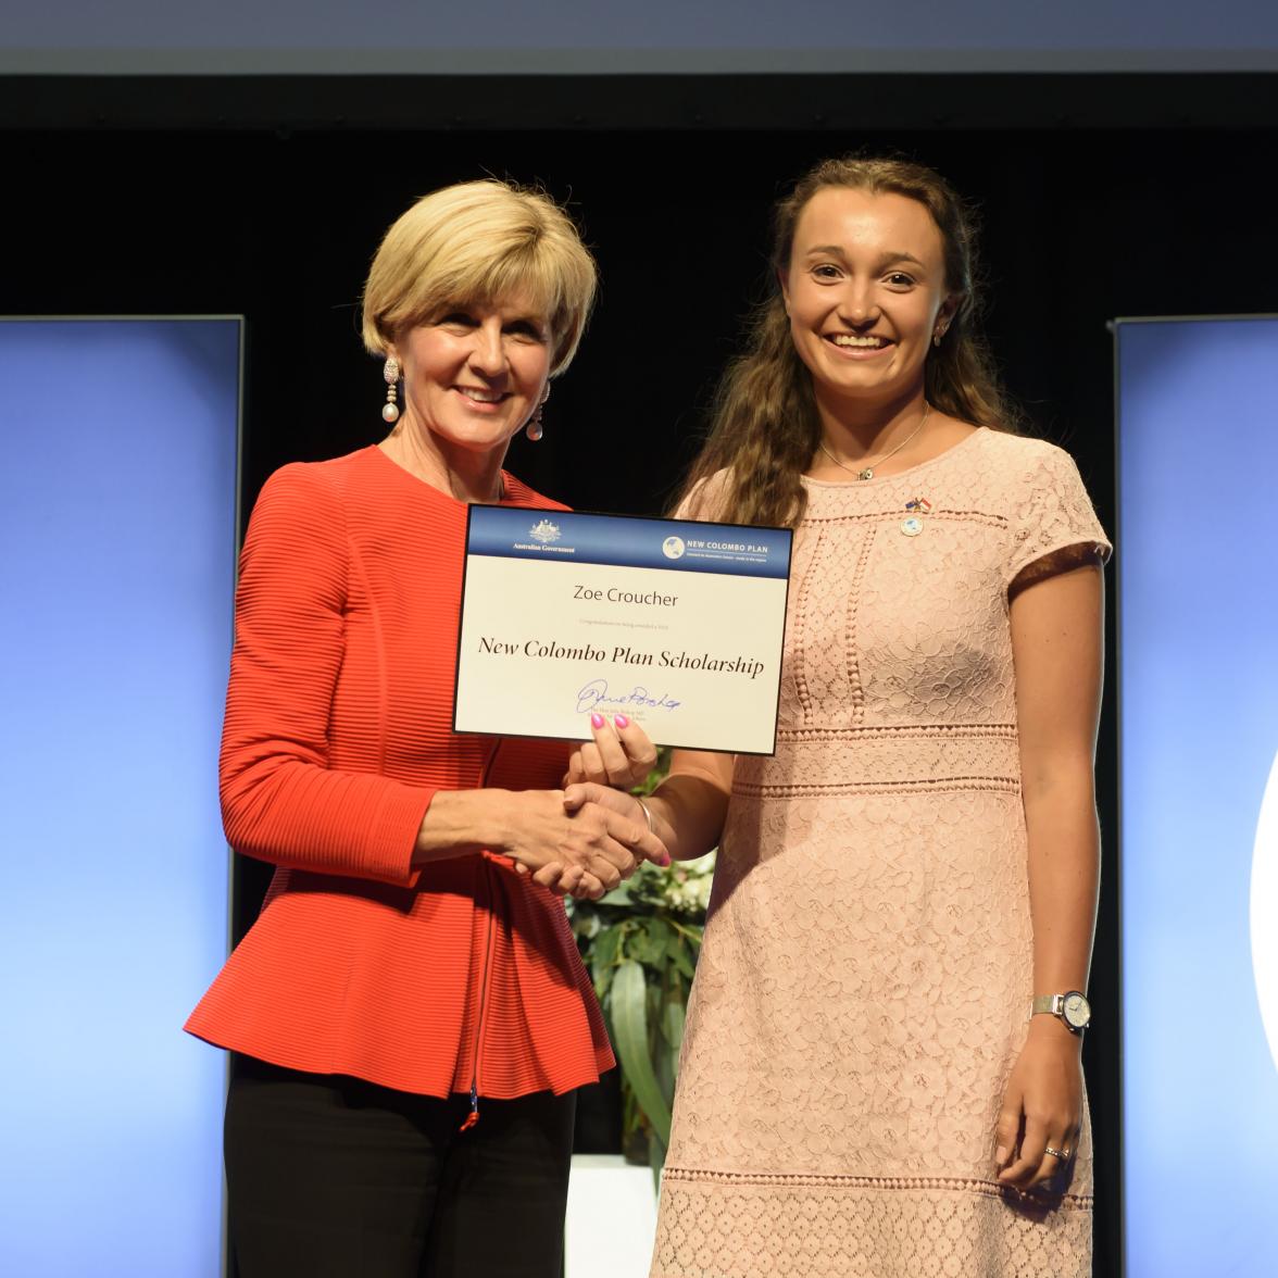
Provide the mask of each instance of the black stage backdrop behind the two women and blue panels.
{"label": "black stage backdrop behind the two women and blue panels", "polygon": [[[570,201],[603,289],[547,405],[546,438],[518,440],[509,465],[578,507],[656,512],[695,450],[716,373],[758,294],[772,201],[819,157],[892,148],[934,165],[980,206],[988,328],[1007,381],[1034,429],[1077,458],[1113,532],[1107,322],[1278,311],[1266,181],[1274,83],[4,79],[0,312],[243,314],[247,518],[276,466],[383,435],[385,387],[358,339],[358,296],[385,227],[446,183],[486,173],[541,181]],[[6,427],[56,422],[55,385],[45,420]],[[1203,464],[1227,464],[1212,426],[1203,423]],[[1171,500],[1192,500],[1189,483]],[[1121,1272],[1112,680],[1098,778],[1105,868],[1086,1063],[1095,1272],[1108,1275]],[[239,929],[263,884],[247,865]]]}

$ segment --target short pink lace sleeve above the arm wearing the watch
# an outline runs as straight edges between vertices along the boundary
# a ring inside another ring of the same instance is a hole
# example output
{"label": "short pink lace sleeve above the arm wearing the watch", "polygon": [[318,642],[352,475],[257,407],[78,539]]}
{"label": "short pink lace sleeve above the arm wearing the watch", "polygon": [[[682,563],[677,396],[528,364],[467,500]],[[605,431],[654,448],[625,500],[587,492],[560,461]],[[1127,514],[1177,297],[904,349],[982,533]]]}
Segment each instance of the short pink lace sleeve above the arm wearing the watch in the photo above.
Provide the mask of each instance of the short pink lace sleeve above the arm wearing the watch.
{"label": "short pink lace sleeve above the arm wearing the watch", "polygon": [[1028,584],[1081,564],[1104,564],[1113,551],[1074,459],[1035,442],[1017,477],[1008,511],[1006,584]]}

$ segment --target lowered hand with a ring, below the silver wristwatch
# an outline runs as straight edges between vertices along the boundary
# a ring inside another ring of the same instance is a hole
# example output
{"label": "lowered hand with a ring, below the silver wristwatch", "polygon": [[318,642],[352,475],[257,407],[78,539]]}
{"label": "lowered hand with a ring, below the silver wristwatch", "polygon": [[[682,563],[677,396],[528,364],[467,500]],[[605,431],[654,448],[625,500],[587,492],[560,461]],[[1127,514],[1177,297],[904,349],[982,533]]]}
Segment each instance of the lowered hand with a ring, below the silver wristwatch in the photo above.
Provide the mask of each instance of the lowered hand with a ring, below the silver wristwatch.
{"label": "lowered hand with a ring, below the silver wristwatch", "polygon": [[1024,1194],[1058,1177],[1072,1162],[1082,1127],[1081,1051],[1080,1038],[1057,1017],[1030,1020],[998,1116],[999,1183]]}

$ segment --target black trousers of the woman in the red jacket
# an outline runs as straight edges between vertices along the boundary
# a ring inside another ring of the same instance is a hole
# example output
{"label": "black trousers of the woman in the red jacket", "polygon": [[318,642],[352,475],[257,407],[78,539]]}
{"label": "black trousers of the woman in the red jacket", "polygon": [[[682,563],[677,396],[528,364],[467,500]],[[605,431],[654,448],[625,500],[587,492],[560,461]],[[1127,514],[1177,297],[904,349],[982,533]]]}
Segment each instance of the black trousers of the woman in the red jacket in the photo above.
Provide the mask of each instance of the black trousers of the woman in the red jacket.
{"label": "black trousers of the woman in the red jacket", "polygon": [[470,1103],[244,1061],[226,1098],[240,1278],[560,1278],[576,1093]]}

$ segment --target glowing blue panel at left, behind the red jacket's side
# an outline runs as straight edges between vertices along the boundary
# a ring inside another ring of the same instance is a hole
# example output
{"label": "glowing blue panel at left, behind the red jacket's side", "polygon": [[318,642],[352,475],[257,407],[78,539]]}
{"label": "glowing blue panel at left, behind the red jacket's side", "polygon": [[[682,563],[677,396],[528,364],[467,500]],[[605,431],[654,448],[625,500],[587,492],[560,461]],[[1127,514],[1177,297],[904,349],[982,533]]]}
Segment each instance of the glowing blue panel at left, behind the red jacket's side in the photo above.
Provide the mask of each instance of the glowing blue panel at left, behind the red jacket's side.
{"label": "glowing blue panel at left, behind the red jacket's side", "polygon": [[213,1278],[240,323],[0,322],[0,1273]]}

